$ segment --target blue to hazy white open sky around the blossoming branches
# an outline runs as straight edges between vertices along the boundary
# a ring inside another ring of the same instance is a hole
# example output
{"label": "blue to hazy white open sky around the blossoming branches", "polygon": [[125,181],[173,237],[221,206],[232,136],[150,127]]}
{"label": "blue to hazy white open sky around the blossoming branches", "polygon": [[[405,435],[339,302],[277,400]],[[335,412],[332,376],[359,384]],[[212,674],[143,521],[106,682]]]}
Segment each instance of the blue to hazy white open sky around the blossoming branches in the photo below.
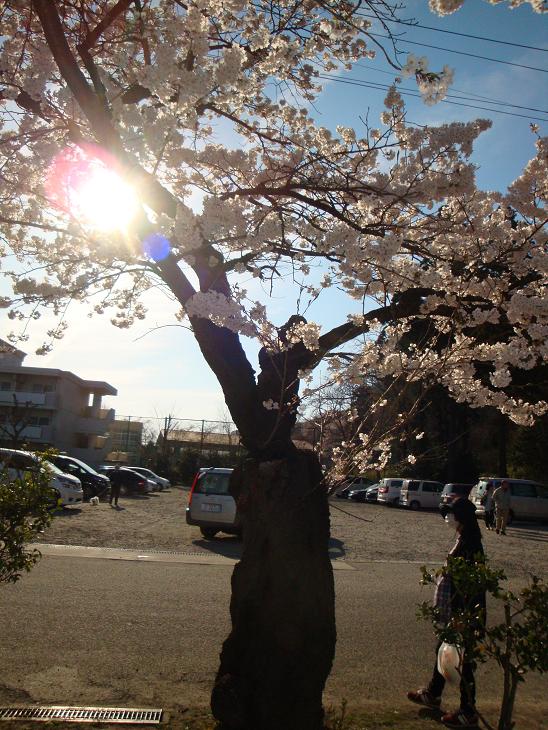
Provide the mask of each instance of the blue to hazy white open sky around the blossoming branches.
{"label": "blue to hazy white open sky around the blossoming branches", "polygon": [[[421,24],[440,29],[548,47],[546,16],[533,13],[528,5],[510,11],[506,4],[492,6],[480,0],[468,0],[459,12],[440,18],[428,11],[426,0],[408,0],[402,17],[415,17]],[[394,32],[405,32],[400,41],[402,48],[417,56],[428,56],[431,69],[448,64],[455,70],[453,87],[458,90],[455,93],[466,92],[524,107],[546,108],[546,73],[423,48],[405,40],[541,68],[548,68],[546,53],[420,28],[391,27]],[[402,62],[404,58],[405,54]],[[340,78],[387,84],[391,81],[387,71],[390,67],[379,55]],[[413,79],[405,80],[402,87],[414,88]],[[376,126],[383,98],[382,91],[330,81],[315,105],[315,114],[324,126],[343,124],[359,128],[360,116],[366,115],[372,126]],[[479,168],[478,183],[487,189],[503,189],[519,174],[534,154],[535,138],[529,122],[535,116],[548,119],[547,113],[520,109],[513,111],[525,115],[524,118],[443,103],[426,107],[416,99],[405,98],[408,118],[420,124],[467,121],[477,117],[493,120],[492,129],[482,135],[474,154]],[[479,100],[476,104],[493,106]],[[548,124],[537,123],[541,134],[548,134]],[[250,295],[261,298],[256,282],[250,283]],[[294,311],[293,304],[289,291],[281,290],[275,303],[278,322]],[[173,308],[159,293],[151,294],[149,305],[147,320],[130,330],[114,328],[107,317],[89,319],[75,306],[65,338],[46,357],[29,354],[26,364],[62,368],[84,378],[108,381],[118,388],[118,396],[107,399],[106,403],[119,415],[161,418],[172,413],[188,419],[223,419],[226,411],[220,388],[204,365],[192,334],[183,327],[169,326],[174,323]],[[344,320],[345,307],[336,293],[326,292],[309,315],[327,329]],[[5,319],[4,329],[9,330],[9,322]],[[32,353],[41,343],[45,329],[40,321],[35,323],[31,340],[23,349]],[[249,351],[253,357],[255,348],[250,346]]]}

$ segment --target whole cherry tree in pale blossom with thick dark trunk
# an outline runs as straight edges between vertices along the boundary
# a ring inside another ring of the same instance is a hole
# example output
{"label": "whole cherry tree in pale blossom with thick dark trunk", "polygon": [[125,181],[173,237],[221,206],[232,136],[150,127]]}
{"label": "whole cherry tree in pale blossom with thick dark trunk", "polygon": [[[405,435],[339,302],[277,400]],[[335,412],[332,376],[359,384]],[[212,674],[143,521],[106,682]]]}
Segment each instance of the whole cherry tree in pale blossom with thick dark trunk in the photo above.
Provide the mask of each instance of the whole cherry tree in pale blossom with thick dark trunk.
{"label": "whole cherry tree in pale blossom with thick dark trunk", "polygon": [[[232,484],[243,554],[212,693],[229,728],[321,727],[334,589],[321,470],[291,440],[301,380],[328,360],[340,382],[397,374],[520,423],[546,411],[516,384],[548,356],[548,142],[506,194],[487,193],[470,159],[487,121],[413,126],[394,86],[378,128],[315,123],[320,72],[374,51],[398,65],[364,7],[381,23],[395,13],[383,0],[0,10],[0,240],[12,282],[1,305],[23,328],[44,310],[58,317],[45,352],[69,302],[128,327],[161,288],[249,453]],[[407,71],[430,96],[447,83]],[[246,278],[272,290],[292,280],[301,301],[338,287],[351,304],[325,332],[302,310],[273,323]],[[419,343],[402,347],[417,326]],[[254,366],[242,338],[260,342]]]}

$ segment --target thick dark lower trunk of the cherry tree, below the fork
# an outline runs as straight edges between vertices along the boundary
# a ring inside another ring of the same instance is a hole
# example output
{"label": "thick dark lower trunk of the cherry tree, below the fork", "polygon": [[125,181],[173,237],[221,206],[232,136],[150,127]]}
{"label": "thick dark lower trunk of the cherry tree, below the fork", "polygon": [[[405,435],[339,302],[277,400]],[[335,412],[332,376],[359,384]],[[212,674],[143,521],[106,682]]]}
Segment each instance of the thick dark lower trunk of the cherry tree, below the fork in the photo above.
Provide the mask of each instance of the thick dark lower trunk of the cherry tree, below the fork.
{"label": "thick dark lower trunk of the cherry tree, below the fork", "polygon": [[248,459],[233,474],[243,526],[232,630],[211,698],[227,730],[320,730],[335,652],[329,507],[315,455]]}

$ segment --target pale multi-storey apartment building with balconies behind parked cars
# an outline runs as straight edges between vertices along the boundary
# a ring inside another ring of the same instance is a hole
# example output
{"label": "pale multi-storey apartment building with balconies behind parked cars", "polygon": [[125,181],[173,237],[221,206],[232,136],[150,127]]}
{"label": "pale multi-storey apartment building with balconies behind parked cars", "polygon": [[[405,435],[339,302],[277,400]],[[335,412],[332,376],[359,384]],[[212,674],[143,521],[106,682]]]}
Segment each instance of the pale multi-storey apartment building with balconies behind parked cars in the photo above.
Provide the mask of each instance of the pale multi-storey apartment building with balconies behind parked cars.
{"label": "pale multi-storey apartment building with balconies behind parked cars", "polygon": [[23,365],[26,354],[0,339],[0,441],[4,446],[53,446],[88,464],[110,451],[112,408],[103,396],[117,390],[55,368]]}

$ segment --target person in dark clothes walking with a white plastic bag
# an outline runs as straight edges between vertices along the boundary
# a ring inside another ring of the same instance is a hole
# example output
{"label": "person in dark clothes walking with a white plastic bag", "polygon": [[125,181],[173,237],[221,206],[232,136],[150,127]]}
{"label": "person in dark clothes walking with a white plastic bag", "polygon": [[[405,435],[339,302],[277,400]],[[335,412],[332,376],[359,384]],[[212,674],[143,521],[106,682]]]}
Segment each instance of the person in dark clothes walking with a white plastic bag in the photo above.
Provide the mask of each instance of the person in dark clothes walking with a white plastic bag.
{"label": "person in dark clothes walking with a white plastic bag", "polygon": [[[474,564],[484,559],[483,545],[481,542],[481,530],[476,519],[476,508],[472,502],[463,497],[453,503],[451,512],[446,519],[454,519],[457,540],[449,552],[448,557],[463,558],[467,563]],[[478,614],[478,628],[485,626],[485,593],[478,596],[462,596],[455,592],[452,582],[449,583],[449,610],[459,610],[466,606],[474,606]],[[449,615],[447,616],[447,619]],[[442,642],[436,647],[436,661],[432,678],[428,686],[414,692],[408,692],[407,697],[411,702],[439,709],[441,707],[441,695],[445,686],[445,678],[438,671],[437,655]],[[449,712],[442,716],[441,720],[446,727],[462,728],[477,727],[478,716],[476,714],[476,683],[474,679],[475,662],[468,656],[466,647],[461,668],[460,682],[460,707],[456,712]]]}

